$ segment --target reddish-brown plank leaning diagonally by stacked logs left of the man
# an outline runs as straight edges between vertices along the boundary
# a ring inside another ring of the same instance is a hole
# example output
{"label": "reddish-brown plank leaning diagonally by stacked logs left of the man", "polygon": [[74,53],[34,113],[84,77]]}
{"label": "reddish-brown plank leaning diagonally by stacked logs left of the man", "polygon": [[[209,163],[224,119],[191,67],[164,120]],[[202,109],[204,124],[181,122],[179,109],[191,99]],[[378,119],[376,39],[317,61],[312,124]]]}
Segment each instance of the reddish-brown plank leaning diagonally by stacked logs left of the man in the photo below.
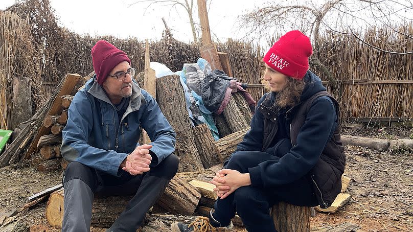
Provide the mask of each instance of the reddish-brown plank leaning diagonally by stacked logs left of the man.
{"label": "reddish-brown plank leaning diagonally by stacked logs left of the man", "polygon": [[[78,74],[67,74],[64,80],[64,83],[62,85],[62,88],[60,89],[59,93],[57,94],[52,107],[49,110],[49,113],[47,115],[56,115],[60,114],[62,112],[62,96],[63,95],[69,95],[75,85],[77,84],[79,78],[81,76]],[[43,135],[49,134],[50,128],[46,128],[43,125],[40,126],[38,133],[32,143],[29,146],[29,150],[25,154],[25,159],[27,159],[31,154],[33,154],[36,151],[36,145],[37,142],[39,141],[39,138]]]}

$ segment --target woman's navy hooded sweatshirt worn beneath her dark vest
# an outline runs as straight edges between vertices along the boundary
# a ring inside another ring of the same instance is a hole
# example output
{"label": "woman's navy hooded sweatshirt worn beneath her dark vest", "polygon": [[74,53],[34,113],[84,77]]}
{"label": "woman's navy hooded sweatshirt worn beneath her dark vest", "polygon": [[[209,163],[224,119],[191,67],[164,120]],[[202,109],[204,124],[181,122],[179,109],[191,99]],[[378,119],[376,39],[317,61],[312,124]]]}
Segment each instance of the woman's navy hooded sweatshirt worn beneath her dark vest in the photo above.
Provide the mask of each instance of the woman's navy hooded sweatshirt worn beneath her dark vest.
{"label": "woman's navy hooded sweatshirt worn beneath her dark vest", "polygon": [[[325,91],[321,80],[310,71],[304,77],[306,82],[300,101],[305,101],[319,91]],[[337,127],[336,111],[329,97],[314,100],[306,116],[306,121],[297,136],[294,146],[290,140],[290,123],[294,115],[287,115],[288,109],[277,111],[278,130],[274,140],[264,146],[264,115],[260,109],[267,95],[271,94],[271,104],[276,93],[265,94],[258,102],[251,129],[238,145],[237,151],[264,151],[280,157],[279,161],[268,160],[259,166],[249,168],[251,184],[255,187],[273,187],[291,183],[306,175],[318,162],[327,142]]]}

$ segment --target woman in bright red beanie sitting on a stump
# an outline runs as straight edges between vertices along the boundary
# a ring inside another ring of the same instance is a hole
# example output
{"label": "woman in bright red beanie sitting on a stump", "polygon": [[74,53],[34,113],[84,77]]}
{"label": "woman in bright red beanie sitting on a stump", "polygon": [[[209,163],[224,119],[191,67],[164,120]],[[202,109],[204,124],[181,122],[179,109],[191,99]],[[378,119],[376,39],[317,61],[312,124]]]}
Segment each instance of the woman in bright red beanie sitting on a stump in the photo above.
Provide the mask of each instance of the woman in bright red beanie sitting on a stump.
{"label": "woman in bright red beanie sitting on a stump", "polygon": [[[226,231],[235,213],[248,231],[276,231],[269,209],[279,201],[327,208],[341,190],[345,155],[337,101],[308,70],[310,40],[290,31],[264,57],[265,94],[251,129],[214,180],[219,199],[208,220],[172,231]],[[205,230],[202,230],[205,231]],[[206,230],[208,231],[208,230]]]}

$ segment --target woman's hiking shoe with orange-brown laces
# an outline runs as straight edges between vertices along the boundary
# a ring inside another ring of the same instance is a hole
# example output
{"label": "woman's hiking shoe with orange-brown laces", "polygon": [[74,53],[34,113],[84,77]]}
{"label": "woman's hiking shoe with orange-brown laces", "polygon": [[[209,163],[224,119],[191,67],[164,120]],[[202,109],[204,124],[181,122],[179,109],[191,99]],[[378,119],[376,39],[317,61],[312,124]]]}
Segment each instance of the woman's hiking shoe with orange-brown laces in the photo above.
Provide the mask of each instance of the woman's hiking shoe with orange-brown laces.
{"label": "woman's hiking shoe with orange-brown laces", "polygon": [[171,224],[172,232],[228,232],[233,228],[233,223],[225,227],[214,227],[207,217],[198,217],[191,224],[175,222]]}

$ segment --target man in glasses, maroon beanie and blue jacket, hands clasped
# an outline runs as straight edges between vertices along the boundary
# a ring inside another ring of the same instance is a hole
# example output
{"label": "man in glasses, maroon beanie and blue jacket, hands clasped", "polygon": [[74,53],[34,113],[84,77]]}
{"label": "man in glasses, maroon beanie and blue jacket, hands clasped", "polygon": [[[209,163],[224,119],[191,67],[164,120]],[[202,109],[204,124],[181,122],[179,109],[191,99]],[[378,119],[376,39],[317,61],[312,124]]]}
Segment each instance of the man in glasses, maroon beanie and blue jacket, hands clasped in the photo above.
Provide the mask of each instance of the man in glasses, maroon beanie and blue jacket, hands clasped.
{"label": "man in glasses, maroon beanie and blue jacket, hands clasped", "polygon": [[[96,75],[75,95],[61,153],[62,231],[89,231],[95,197],[132,195],[106,231],[136,231],[178,169],[175,132],[155,99],[133,81],[126,53],[107,41],[91,50]],[[137,143],[142,126],[152,141]]]}

